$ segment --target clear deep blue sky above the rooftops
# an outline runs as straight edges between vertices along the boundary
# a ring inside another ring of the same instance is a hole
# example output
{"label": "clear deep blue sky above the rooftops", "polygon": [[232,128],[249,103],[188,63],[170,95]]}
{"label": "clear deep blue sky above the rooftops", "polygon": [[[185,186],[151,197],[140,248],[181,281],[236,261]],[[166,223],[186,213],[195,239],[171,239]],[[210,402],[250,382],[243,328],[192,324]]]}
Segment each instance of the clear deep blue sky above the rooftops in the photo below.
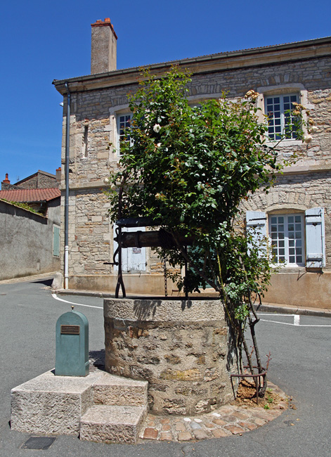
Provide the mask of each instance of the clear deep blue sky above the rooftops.
{"label": "clear deep blue sky above the rooftops", "polygon": [[1,6],[0,181],[60,166],[53,79],[89,75],[91,23],[110,18],[117,68],[331,35],[330,0],[13,0]]}

